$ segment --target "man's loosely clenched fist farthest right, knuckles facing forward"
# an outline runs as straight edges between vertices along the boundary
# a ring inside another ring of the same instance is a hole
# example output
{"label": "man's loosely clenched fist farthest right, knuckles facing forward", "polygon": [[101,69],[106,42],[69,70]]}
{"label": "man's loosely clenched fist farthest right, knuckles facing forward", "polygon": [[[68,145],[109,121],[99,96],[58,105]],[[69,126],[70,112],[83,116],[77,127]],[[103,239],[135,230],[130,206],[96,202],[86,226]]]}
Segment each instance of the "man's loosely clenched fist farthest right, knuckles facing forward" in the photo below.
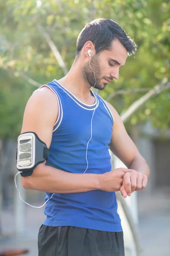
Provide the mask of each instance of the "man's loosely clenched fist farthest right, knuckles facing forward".
{"label": "man's loosely clenched fist farthest right, knuckles facing forward", "polygon": [[124,198],[130,196],[134,191],[142,190],[147,185],[147,176],[141,172],[133,170],[132,172],[126,172],[123,177],[123,184],[120,188],[120,192]]}

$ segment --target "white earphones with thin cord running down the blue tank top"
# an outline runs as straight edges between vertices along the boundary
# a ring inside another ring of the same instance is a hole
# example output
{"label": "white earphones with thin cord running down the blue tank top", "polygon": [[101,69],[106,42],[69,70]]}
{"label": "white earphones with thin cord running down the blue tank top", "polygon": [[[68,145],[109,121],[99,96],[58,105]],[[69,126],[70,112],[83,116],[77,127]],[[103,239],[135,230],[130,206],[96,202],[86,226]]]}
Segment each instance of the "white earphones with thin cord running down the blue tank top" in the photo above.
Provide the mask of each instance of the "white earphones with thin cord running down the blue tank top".
{"label": "white earphones with thin cord running down the blue tank top", "polygon": [[[88,52],[88,55],[89,55],[89,57],[90,57],[89,67],[91,68],[91,70],[93,70],[92,67],[91,67],[91,54],[90,54],[91,49],[88,49],[87,52]],[[93,72],[94,72],[94,70],[93,70]],[[95,76],[95,73],[94,73],[94,78],[95,78],[95,84],[94,84],[93,87],[95,87],[95,85],[96,85],[96,76]],[[96,95],[97,95],[97,90],[96,90]],[[95,96],[95,94],[94,94],[94,96]],[[95,112],[95,110],[96,110],[96,108],[97,108],[97,106],[98,106],[98,104],[97,104],[97,97],[96,97],[96,96],[95,96],[95,99],[96,99],[96,107],[95,107],[95,109],[94,109],[94,112]],[[93,115],[92,115],[92,118],[91,118],[91,137],[90,137],[90,140],[88,140],[88,143],[91,141],[91,138],[92,138],[92,120],[93,120],[93,117],[94,117],[94,112],[93,112]],[[88,158],[87,158],[88,143],[87,143],[86,153],[85,153],[85,159],[86,159],[86,162],[87,162],[87,168],[85,169],[84,173],[85,173],[85,172],[87,171],[87,169],[88,169]],[[17,172],[17,174],[16,174],[15,177],[14,177],[14,181],[15,181],[15,186],[16,186],[16,188],[17,188],[16,177],[17,177],[17,175],[18,175],[19,173],[20,173],[20,172]],[[21,199],[25,204],[27,204],[28,206],[31,206],[31,207],[34,207],[34,208],[41,208],[41,207],[43,207],[43,206],[53,197],[53,195],[54,195],[54,193],[53,193],[53,194],[51,195],[51,197],[48,198],[48,200],[45,201],[44,204],[42,204],[42,206],[37,207],[37,206],[33,206],[33,205],[31,205],[31,204],[26,203],[26,202],[21,198],[21,196],[20,196],[20,191],[19,191],[18,188],[17,188],[17,191],[18,191],[18,194],[19,194],[20,199]]]}

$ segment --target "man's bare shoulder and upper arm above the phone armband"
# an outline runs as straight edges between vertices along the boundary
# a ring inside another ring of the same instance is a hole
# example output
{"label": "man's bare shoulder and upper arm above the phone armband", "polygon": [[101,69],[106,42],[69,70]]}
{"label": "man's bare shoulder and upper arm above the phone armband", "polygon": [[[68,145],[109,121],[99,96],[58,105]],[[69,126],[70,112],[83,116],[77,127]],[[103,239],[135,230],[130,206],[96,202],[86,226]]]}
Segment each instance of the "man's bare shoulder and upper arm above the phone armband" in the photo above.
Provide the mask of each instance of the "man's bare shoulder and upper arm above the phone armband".
{"label": "man's bare shoulder and upper arm above the phone armband", "polygon": [[35,90],[28,99],[21,133],[34,131],[49,146],[57,118],[57,98],[48,87],[42,87]]}

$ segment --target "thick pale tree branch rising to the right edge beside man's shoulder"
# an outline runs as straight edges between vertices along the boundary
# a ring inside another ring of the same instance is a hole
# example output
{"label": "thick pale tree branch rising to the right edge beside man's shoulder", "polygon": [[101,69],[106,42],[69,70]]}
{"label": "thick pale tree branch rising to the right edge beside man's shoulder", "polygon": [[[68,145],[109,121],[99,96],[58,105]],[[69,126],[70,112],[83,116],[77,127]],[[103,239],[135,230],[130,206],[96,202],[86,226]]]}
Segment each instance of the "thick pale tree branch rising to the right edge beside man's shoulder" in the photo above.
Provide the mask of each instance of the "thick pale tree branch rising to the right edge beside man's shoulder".
{"label": "thick pale tree branch rising to the right edge beside man's shoulder", "polygon": [[168,89],[170,89],[170,82],[167,81],[163,81],[161,85],[153,87],[153,89],[149,90],[144,96],[133,102],[125,113],[120,115],[122,121],[125,123],[127,119],[129,119],[130,116],[132,116],[132,114],[135,113],[148,99]]}

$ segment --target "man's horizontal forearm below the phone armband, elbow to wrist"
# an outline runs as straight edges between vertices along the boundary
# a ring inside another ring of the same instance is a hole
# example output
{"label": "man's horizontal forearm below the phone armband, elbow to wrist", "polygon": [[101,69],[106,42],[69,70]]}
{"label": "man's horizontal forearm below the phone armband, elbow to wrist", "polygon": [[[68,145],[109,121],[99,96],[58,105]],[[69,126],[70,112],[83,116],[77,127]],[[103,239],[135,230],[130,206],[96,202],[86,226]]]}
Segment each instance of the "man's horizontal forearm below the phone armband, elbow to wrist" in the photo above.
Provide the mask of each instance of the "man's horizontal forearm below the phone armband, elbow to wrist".
{"label": "man's horizontal forearm below the phone armband, elbow to wrist", "polygon": [[78,193],[99,189],[100,179],[99,175],[64,172],[42,163],[31,176],[22,177],[22,185],[43,192]]}

